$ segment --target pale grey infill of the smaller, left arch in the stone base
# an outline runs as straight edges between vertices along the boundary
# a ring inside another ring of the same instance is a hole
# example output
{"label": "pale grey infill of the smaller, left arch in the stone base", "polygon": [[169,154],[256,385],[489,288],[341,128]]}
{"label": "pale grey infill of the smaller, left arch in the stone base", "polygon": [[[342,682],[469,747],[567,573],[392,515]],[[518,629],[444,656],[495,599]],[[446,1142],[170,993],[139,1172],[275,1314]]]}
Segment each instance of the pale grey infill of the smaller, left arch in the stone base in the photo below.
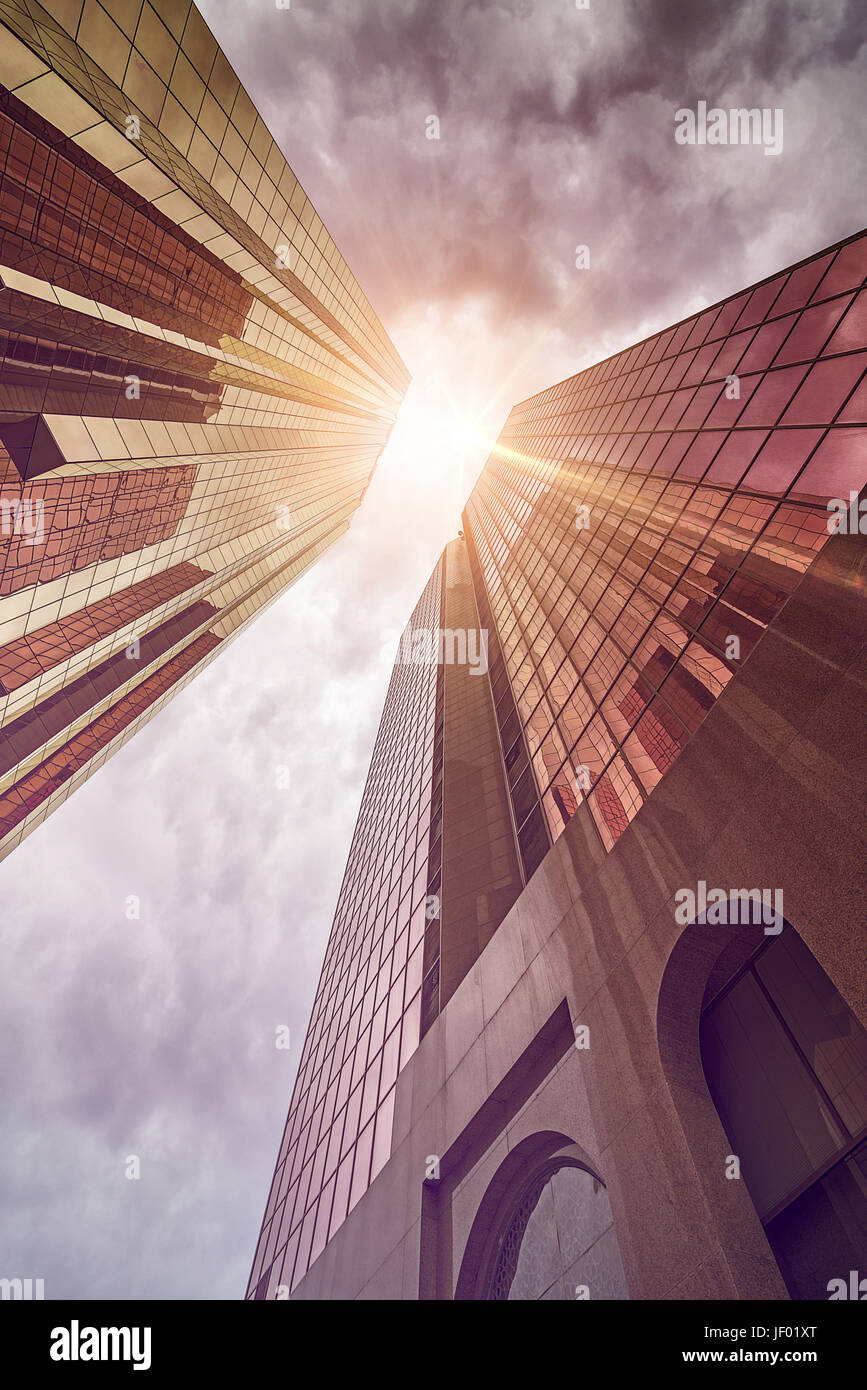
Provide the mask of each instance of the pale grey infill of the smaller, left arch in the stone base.
{"label": "pale grey infill of the smaller, left arch in the stone base", "polygon": [[578,1163],[554,1161],[509,1208],[485,1298],[577,1297],[609,1300],[629,1294],[603,1183]]}

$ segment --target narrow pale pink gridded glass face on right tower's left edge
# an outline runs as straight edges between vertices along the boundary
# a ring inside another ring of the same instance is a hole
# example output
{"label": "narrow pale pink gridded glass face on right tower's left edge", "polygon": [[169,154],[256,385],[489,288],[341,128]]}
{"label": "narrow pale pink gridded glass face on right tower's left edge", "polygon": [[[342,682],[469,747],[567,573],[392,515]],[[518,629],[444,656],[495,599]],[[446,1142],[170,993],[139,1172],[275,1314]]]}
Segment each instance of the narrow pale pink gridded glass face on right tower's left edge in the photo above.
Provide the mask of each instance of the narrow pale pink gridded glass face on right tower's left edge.
{"label": "narrow pale pink gridded glass face on right tower's left edge", "polygon": [[297,1283],[390,1154],[442,855],[442,667],[411,635],[439,630],[442,603],[440,562],[389,684],[250,1276],[256,1298]]}

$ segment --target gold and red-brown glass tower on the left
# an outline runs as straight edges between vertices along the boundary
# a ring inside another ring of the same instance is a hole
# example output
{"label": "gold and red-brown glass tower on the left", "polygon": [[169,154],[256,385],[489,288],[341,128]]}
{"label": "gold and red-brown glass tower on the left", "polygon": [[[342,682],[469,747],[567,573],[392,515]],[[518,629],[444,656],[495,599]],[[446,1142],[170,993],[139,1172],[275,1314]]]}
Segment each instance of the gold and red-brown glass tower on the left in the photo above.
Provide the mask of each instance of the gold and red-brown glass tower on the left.
{"label": "gold and red-brown glass tower on the left", "polygon": [[0,856],[346,531],[408,378],[188,0],[0,6]]}

